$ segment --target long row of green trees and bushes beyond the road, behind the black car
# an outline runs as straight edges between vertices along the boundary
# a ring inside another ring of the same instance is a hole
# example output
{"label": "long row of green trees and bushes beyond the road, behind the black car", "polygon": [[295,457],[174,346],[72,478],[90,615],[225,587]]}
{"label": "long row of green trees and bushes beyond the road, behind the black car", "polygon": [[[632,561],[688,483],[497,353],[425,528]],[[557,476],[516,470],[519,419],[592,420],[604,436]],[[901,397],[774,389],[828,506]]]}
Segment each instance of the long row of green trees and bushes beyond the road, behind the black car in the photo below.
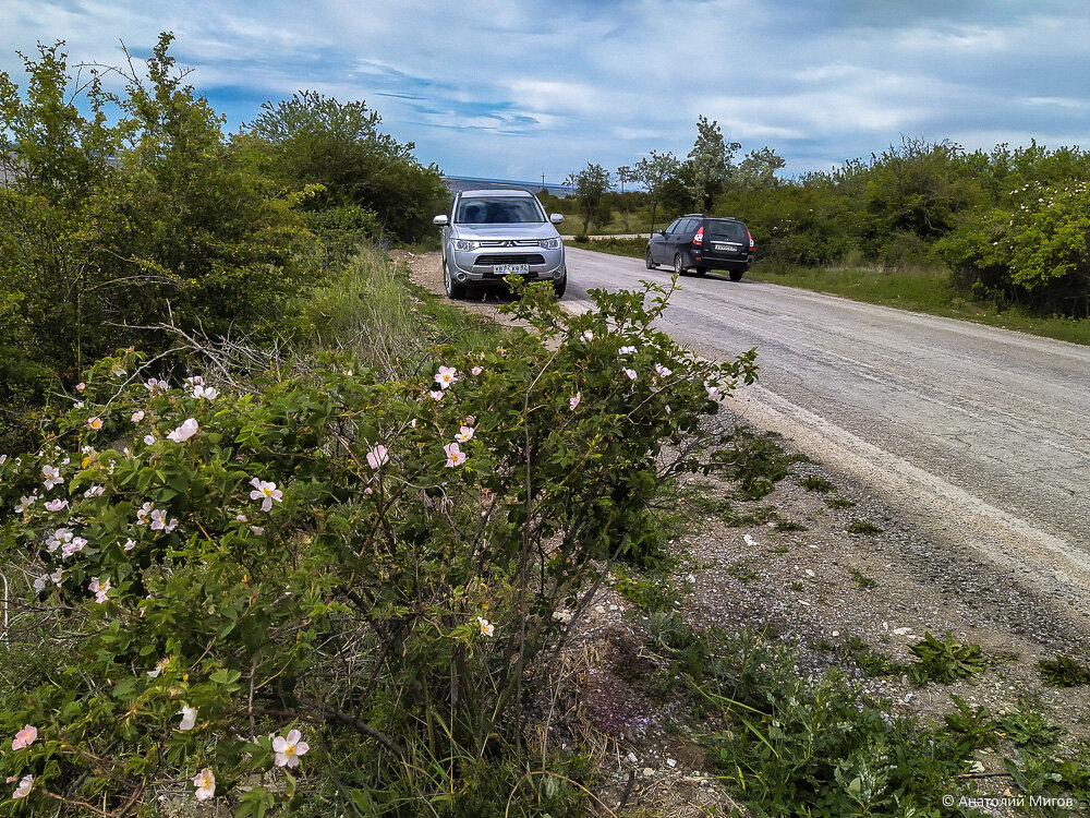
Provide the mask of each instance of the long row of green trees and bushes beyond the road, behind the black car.
{"label": "long row of green trees and bushes beyond the road, behind the black car", "polygon": [[[1041,315],[1090,316],[1090,154],[998,145],[966,152],[903,140],[869,160],[783,180],[770,148],[734,156],[715,122],[701,118],[685,160],[652,152],[616,176],[598,165],[569,176],[572,200],[547,205],[583,218],[583,230],[618,212],[665,226],[687,212],[736,216],[760,258],[804,266],[943,265],[978,300]],[[623,182],[644,190],[618,192]]]}

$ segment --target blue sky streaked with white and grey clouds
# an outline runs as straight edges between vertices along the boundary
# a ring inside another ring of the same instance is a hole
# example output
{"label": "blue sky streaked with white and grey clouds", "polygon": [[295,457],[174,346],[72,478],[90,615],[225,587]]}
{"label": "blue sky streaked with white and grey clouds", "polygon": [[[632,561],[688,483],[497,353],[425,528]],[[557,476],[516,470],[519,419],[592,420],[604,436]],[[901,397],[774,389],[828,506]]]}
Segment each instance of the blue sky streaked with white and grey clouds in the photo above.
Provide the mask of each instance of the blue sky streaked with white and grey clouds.
{"label": "blue sky streaked with white and grey clouds", "polygon": [[455,176],[685,155],[698,115],[788,175],[901,136],[1090,143],[1085,0],[0,0],[0,70],[58,39],[118,64],[164,29],[231,130],[312,88]]}

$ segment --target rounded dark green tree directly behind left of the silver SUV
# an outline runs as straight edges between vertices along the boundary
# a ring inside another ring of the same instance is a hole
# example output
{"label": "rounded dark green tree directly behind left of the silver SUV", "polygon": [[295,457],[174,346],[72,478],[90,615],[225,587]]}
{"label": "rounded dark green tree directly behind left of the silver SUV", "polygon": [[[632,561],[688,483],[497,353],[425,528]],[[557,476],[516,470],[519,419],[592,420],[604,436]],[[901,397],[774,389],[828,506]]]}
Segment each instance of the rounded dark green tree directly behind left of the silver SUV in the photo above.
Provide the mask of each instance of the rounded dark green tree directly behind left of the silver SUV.
{"label": "rounded dark green tree directly behind left of the silver SUV", "polygon": [[[240,142],[274,178],[296,190],[320,184],[308,200],[312,213],[365,226],[367,214],[404,240],[434,231],[432,217],[448,200],[437,165],[422,165],[412,142],[379,131],[383,118],[366,103],[340,103],[315,91],[262,105]],[[312,224],[323,224],[323,217]]]}

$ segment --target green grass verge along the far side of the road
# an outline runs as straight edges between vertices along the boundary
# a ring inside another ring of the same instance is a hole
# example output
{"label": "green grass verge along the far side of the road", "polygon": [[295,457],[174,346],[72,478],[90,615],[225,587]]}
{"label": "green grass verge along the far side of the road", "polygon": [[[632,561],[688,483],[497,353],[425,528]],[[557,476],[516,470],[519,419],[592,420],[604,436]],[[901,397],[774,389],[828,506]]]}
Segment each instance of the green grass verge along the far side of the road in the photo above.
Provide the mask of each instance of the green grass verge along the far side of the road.
{"label": "green grass verge along the far side of the road", "polygon": [[[569,241],[568,245],[642,258],[647,240],[598,239],[589,242]],[[1090,320],[1042,318],[1017,306],[972,301],[966,293],[950,286],[949,273],[937,267],[883,270],[876,267],[800,267],[766,261],[753,265],[746,277],[753,281],[840,296],[868,304],[960,318],[1090,346]]]}

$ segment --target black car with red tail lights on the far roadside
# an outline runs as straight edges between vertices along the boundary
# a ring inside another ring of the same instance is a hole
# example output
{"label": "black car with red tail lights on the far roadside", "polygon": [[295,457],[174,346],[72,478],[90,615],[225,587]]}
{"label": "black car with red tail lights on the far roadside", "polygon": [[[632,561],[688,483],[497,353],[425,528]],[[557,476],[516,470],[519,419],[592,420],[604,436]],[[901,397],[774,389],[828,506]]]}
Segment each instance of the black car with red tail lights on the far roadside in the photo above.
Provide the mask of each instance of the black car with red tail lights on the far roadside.
{"label": "black car with red tail lights on the far roadside", "polygon": [[673,265],[678,275],[725,269],[731,281],[738,281],[753,263],[753,237],[738,219],[688,213],[651,237],[646,263],[647,269]]}

